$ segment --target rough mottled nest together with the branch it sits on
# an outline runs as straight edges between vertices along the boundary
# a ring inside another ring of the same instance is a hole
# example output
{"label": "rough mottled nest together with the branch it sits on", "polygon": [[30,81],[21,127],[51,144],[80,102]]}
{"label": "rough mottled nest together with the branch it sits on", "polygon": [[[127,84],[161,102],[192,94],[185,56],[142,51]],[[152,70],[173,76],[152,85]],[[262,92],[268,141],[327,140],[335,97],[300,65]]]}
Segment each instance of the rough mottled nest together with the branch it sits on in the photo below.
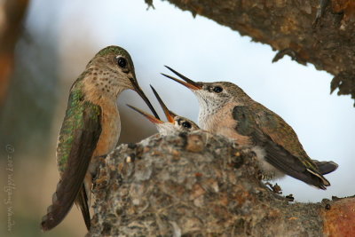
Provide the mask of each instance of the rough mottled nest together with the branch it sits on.
{"label": "rough mottled nest together with the branch it sits on", "polygon": [[355,198],[294,203],[259,174],[208,132],[123,144],[101,161],[88,236],[354,236]]}

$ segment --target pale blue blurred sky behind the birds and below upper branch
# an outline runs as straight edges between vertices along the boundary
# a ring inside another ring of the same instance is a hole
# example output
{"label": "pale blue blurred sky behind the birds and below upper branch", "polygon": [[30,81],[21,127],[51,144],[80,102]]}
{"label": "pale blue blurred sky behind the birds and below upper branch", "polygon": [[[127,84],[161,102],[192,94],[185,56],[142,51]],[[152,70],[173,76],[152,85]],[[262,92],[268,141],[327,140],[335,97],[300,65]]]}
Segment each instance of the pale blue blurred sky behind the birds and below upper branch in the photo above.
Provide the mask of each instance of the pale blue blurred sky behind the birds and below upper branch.
{"label": "pale blue blurred sky behind the birds and below upper branch", "polygon": [[[195,81],[236,83],[288,122],[312,159],[339,164],[339,169],[326,177],[332,184],[327,191],[288,177],[277,180],[283,194],[294,194],[296,201],[354,194],[349,189],[355,179],[354,101],[350,96],[337,96],[336,91],[329,94],[332,75],[310,64],[299,65],[288,56],[272,63],[276,51],[270,46],[251,42],[248,36],[204,17],[193,18],[190,12],[182,12],[168,2],[155,0],[155,9],[148,11],[143,0],[46,2],[33,1],[28,29],[57,36],[60,77],[65,88],[99,49],[111,44],[130,52],[138,82],[154,107],[159,108],[149,84],[171,110],[195,122],[197,99],[185,87],[160,75],[171,75],[164,65]],[[41,12],[43,6],[47,11]],[[132,91],[123,92],[120,107],[132,97]],[[67,101],[67,95],[60,99]],[[137,100],[133,105],[147,111],[144,102]],[[153,128],[135,112],[124,111],[142,126]]]}

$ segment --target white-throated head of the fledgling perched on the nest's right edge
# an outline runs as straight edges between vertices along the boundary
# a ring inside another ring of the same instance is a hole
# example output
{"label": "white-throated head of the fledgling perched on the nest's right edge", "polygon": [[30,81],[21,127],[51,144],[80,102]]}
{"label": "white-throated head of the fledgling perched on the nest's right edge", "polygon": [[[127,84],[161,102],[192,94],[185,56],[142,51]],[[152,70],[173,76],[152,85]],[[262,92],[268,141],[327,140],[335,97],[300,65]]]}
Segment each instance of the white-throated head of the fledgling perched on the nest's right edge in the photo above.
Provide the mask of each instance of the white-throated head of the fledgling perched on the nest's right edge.
{"label": "white-throated head of the fledgling perched on the nest's right edge", "polygon": [[[166,66],[167,67],[167,66]],[[195,83],[193,80],[181,75],[174,69],[167,67],[183,80],[177,79],[171,75],[162,74],[177,83],[185,85],[188,89],[199,99],[202,107],[222,107],[230,101],[235,101],[239,104],[245,104],[250,101],[247,93],[245,93],[239,86],[229,82],[216,82],[216,83]]]}

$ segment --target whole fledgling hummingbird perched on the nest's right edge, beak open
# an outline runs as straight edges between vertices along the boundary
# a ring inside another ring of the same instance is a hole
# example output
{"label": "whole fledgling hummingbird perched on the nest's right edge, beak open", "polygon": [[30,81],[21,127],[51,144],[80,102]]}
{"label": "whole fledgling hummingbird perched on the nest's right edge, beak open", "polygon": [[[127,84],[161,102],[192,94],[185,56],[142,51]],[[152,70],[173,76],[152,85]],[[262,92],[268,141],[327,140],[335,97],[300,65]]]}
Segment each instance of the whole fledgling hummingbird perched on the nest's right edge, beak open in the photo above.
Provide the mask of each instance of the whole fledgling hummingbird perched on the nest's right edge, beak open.
{"label": "whole fledgling hummingbird perched on the nest's right edge, beak open", "polygon": [[320,189],[330,186],[323,174],[336,170],[338,165],[312,160],[295,130],[280,115],[251,99],[234,83],[196,83],[167,68],[183,80],[162,75],[185,85],[199,100],[201,129],[233,138],[241,146],[252,146],[264,179],[287,174]]}

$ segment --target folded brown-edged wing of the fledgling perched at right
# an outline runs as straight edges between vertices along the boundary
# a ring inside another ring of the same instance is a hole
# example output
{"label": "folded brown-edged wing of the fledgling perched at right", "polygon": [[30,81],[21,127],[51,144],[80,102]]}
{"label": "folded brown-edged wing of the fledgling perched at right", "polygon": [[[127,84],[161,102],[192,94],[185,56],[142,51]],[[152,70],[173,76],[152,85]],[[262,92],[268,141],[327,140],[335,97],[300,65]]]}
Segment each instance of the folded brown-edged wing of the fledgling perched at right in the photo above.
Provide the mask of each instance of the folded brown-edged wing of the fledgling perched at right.
{"label": "folded brown-edged wing of the fledgling perched at right", "polygon": [[279,115],[260,106],[234,107],[233,118],[238,122],[236,130],[250,137],[256,146],[262,146],[264,159],[278,170],[321,189],[329,186],[304,152],[295,131]]}

